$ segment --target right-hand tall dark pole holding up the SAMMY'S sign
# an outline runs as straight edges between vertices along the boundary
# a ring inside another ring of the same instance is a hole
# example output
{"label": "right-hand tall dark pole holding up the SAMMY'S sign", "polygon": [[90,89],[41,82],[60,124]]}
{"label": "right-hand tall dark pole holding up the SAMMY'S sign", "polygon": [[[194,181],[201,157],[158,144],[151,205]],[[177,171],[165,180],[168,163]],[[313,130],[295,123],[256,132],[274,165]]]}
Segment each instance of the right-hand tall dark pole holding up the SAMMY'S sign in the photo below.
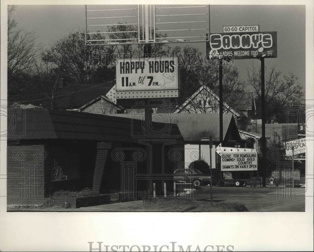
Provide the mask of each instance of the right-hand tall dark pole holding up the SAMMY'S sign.
{"label": "right-hand tall dark pole holding up the SAMMY'S sign", "polygon": [[265,158],[266,158],[266,141],[265,141],[265,64],[264,58],[261,60],[261,92],[262,92],[262,176],[263,187],[266,187],[266,170],[265,170]]}

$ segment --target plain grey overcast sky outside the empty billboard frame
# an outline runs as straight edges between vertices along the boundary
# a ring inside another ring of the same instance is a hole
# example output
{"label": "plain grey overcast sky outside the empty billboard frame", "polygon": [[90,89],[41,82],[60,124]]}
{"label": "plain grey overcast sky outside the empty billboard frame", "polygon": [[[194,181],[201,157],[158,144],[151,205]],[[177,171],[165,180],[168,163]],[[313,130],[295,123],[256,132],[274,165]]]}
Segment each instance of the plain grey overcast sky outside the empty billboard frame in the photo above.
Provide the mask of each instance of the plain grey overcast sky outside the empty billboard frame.
{"label": "plain grey overcast sky outside the empty billboard frame", "polygon": [[[84,5],[17,5],[13,17],[19,28],[34,31],[46,49],[73,31],[84,31]],[[305,5],[210,5],[210,32],[222,33],[229,25],[277,31],[278,58],[266,59],[265,66],[293,72],[305,88]],[[190,45],[205,53],[205,43]],[[260,65],[258,60],[236,60],[242,80],[252,63]]]}

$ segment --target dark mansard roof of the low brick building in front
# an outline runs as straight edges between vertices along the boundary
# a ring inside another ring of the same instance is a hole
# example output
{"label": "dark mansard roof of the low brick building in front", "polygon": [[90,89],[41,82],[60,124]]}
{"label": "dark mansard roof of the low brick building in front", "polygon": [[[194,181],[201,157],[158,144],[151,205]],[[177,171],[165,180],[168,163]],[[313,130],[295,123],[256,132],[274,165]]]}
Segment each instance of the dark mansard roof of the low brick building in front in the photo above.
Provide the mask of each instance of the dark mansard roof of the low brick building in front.
{"label": "dark mansard roof of the low brick building in front", "polygon": [[[50,109],[27,109],[22,118],[23,120],[15,121],[13,131],[8,132],[8,135],[18,139],[73,139],[97,142],[138,142],[138,138],[144,136],[142,121],[129,118]],[[12,128],[11,125],[8,121],[8,129]],[[164,128],[163,123],[153,124],[153,131],[158,132]],[[176,125],[172,125],[168,133],[172,138],[183,142]]]}

